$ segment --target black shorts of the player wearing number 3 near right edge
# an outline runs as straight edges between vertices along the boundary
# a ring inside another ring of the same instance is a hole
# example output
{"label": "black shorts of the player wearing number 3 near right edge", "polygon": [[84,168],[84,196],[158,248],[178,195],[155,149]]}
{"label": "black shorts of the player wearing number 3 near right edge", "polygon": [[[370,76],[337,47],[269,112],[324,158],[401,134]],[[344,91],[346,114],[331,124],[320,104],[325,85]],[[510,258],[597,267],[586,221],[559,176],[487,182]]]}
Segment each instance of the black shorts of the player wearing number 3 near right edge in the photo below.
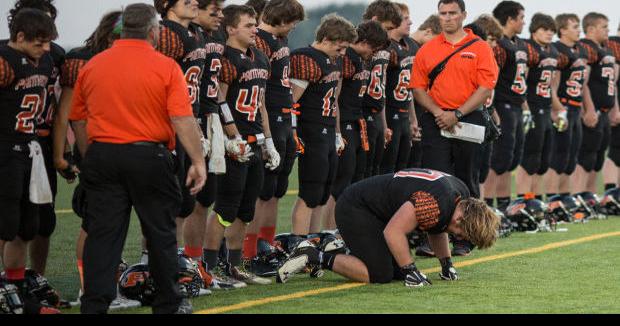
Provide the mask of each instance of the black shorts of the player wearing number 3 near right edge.
{"label": "black shorts of the player wearing number 3 near right edge", "polygon": [[610,138],[611,127],[609,126],[609,115],[606,112],[600,112],[598,123],[594,128],[583,125],[583,141],[579,151],[578,163],[584,170],[599,172],[603,169]]}

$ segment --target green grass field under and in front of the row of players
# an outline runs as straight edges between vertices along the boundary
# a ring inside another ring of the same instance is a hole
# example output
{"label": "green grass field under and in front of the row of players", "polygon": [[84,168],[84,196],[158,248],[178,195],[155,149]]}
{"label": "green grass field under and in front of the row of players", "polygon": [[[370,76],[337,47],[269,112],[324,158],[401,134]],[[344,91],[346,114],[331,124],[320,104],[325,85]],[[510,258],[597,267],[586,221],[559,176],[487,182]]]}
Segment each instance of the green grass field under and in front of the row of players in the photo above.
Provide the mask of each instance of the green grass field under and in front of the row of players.
{"label": "green grass field under and in front of the row of players", "polygon": [[[297,189],[296,172],[291,179],[290,189]],[[59,184],[58,225],[47,276],[64,298],[75,300],[79,289],[75,239],[80,219],[70,212],[73,186],[62,180]],[[283,199],[278,232],[290,230],[294,200],[294,195]],[[130,264],[140,255],[137,221],[132,218],[123,254]],[[620,313],[620,217],[562,227],[568,232],[513,233],[490,250],[455,258],[461,276],[457,282],[439,280],[436,259],[418,259],[418,267],[430,275],[432,286],[357,285],[328,272],[320,279],[298,275],[286,284],[274,280],[269,286],[218,291],[194,298],[192,303],[195,312],[203,313]],[[607,236],[586,238],[600,234]],[[581,242],[566,243],[575,239]],[[63,312],[78,313],[79,309]],[[114,313],[150,313],[150,308]]]}

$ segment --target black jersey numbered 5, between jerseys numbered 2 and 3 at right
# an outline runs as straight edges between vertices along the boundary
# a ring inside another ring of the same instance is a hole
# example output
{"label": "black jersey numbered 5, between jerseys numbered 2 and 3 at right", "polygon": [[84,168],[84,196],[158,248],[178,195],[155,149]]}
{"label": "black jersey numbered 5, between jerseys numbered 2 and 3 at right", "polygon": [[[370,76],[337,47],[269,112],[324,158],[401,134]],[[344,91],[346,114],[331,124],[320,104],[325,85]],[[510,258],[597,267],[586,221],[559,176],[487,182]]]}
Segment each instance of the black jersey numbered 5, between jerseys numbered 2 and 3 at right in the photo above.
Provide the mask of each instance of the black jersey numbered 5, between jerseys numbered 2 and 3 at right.
{"label": "black jersey numbered 5, between jerseys numbered 2 and 3 at right", "polygon": [[558,97],[565,105],[580,106],[583,101],[588,54],[579,43],[571,48],[558,41],[554,46],[559,53],[558,70],[561,73]]}

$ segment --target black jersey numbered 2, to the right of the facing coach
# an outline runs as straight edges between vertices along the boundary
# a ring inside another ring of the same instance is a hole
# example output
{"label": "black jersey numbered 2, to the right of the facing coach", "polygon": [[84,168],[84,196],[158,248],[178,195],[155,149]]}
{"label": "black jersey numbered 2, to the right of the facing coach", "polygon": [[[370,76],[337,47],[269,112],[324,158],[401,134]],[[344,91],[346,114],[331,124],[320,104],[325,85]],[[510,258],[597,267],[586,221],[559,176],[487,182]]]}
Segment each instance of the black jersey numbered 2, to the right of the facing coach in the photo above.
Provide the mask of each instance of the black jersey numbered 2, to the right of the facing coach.
{"label": "black jersey numbered 2, to the right of the facing coach", "polygon": [[551,108],[551,80],[558,67],[558,51],[550,44],[542,47],[534,40],[527,40],[529,73],[527,76],[527,102],[530,106]]}

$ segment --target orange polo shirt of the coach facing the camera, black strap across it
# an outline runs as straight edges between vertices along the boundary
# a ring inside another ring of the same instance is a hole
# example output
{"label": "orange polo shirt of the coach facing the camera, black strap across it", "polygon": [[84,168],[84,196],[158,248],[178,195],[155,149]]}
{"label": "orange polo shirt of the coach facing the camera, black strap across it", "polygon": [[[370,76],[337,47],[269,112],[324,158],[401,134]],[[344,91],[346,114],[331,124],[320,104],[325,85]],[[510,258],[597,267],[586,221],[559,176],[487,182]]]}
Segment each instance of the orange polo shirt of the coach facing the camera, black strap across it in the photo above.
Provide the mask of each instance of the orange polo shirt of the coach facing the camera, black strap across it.
{"label": "orange polo shirt of the coach facing the camera, black strap across it", "polygon": [[[457,44],[446,40],[442,33],[418,51],[412,69],[410,88],[428,90],[428,74],[453,51],[477,36],[465,29],[467,36]],[[480,40],[457,53],[439,74],[429,95],[442,108],[458,109],[479,87],[494,89],[499,69],[493,50]]]}

